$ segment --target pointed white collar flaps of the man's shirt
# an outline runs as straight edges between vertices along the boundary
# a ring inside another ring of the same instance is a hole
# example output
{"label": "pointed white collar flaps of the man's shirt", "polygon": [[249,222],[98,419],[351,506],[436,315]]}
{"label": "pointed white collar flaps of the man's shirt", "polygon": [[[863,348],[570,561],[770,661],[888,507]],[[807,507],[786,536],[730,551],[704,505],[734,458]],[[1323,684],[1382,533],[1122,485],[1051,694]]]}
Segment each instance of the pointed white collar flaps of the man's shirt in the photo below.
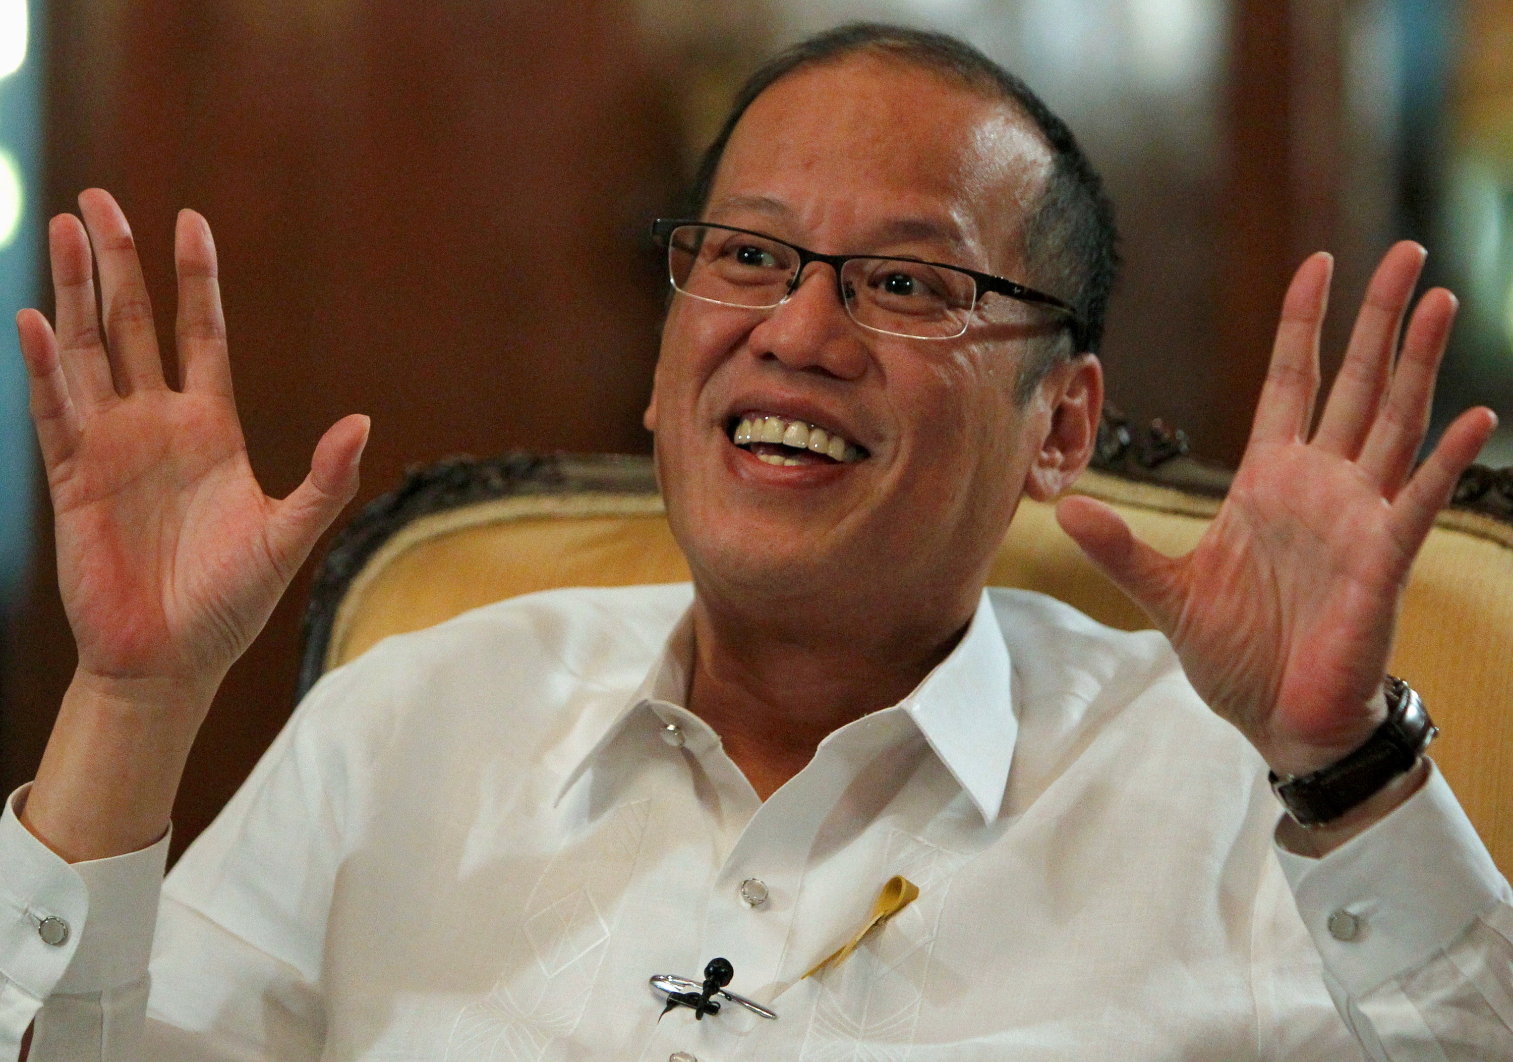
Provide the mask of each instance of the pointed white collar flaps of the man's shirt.
{"label": "pointed white collar flaps of the man's shirt", "polygon": [[[691,722],[684,705],[693,667],[693,610],[678,620],[661,654],[625,706],[608,723],[592,725],[598,740],[567,773],[552,803],[583,778],[605,747],[634,719],[654,713],[661,722],[678,722],[685,734]],[[924,676],[909,696],[897,703],[924,735],[935,756],[967,791],[985,823],[999,817],[1003,790],[1018,737],[1018,717],[1012,702],[1012,667],[1003,631],[986,590],[977,611],[956,647]],[[602,717],[601,717],[602,719]],[[602,728],[602,729],[601,729]],[[697,726],[699,731],[707,728]],[[841,728],[843,731],[846,728]],[[840,731],[837,731],[840,734]],[[587,738],[589,734],[584,734]],[[688,734],[696,738],[694,734]],[[710,744],[719,741],[708,732]],[[701,753],[702,740],[688,743]]]}

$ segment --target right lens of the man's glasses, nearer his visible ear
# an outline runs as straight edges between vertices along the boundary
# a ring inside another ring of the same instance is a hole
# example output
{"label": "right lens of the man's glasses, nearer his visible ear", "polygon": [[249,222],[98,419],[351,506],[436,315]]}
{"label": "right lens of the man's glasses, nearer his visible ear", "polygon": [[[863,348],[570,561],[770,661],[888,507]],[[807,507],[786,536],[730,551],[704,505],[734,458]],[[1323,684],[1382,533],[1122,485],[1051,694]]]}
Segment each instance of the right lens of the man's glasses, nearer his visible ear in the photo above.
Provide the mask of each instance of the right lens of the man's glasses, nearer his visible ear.
{"label": "right lens of the man's glasses, nearer his visible ear", "polygon": [[852,259],[841,290],[856,324],[920,339],[962,334],[977,303],[967,274],[906,259]]}

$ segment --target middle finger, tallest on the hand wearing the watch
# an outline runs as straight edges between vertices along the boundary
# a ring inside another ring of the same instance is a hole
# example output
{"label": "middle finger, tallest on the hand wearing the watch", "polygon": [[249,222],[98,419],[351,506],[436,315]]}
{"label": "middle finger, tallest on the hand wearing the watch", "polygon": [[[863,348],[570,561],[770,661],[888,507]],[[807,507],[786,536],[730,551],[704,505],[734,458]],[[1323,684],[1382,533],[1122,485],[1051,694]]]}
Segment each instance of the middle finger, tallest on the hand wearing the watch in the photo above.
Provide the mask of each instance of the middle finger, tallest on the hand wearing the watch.
{"label": "middle finger, tallest on the hand wearing the watch", "polygon": [[1424,271],[1427,254],[1418,244],[1403,241],[1386,253],[1371,277],[1350,334],[1350,346],[1345,348],[1345,360],[1313,437],[1322,449],[1348,460],[1360,455],[1387,393],[1403,315]]}

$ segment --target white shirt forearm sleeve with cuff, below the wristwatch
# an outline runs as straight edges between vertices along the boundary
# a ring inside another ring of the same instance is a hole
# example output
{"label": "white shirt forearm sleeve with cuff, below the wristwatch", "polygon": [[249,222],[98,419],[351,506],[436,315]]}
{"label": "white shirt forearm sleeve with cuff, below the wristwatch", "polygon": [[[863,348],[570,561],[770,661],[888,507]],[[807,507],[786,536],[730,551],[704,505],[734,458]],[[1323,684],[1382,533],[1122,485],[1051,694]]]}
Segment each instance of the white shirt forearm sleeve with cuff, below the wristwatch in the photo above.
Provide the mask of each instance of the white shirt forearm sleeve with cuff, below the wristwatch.
{"label": "white shirt forearm sleeve with cuff, below the wristwatch", "polygon": [[1322,859],[1275,852],[1368,1057],[1513,1059],[1513,891],[1433,762],[1401,808]]}

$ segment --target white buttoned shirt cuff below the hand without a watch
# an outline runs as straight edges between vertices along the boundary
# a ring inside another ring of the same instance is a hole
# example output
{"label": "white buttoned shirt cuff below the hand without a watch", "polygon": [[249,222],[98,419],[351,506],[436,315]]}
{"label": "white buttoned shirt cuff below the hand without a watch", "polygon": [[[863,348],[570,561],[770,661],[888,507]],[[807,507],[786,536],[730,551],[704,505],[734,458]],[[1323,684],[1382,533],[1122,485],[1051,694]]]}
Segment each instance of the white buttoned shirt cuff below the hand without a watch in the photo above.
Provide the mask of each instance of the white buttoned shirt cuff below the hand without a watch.
{"label": "white buttoned shirt cuff below the hand without a watch", "polygon": [[70,864],[17,817],[29,790],[0,812],[0,974],[36,998],[145,977],[171,831],[139,852]]}

